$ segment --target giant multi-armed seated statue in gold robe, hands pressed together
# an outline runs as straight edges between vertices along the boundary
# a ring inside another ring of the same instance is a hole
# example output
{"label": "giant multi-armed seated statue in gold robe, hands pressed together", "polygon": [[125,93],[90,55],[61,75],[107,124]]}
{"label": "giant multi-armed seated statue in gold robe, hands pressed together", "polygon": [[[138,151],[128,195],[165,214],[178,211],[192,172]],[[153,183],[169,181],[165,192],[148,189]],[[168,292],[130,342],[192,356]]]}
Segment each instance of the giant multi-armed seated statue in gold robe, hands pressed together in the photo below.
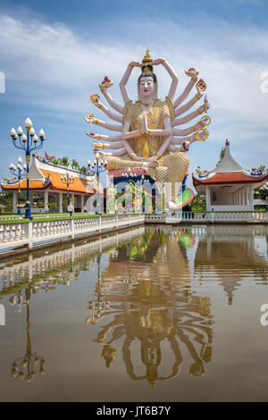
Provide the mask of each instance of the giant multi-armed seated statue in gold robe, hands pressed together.
{"label": "giant multi-armed seated statue in gold robe, hands pressed together", "polygon": [[[157,97],[157,79],[153,72],[153,66],[163,64],[163,67],[172,77],[172,85],[168,96],[164,101]],[[130,78],[133,67],[141,67],[141,75],[138,78],[138,101],[130,100],[126,84]],[[92,114],[85,117],[90,125],[92,122],[107,130],[120,131],[121,135],[111,137],[96,133],[87,133],[95,140],[107,140],[109,143],[93,142],[98,149],[113,149],[113,153],[99,151],[99,155],[107,161],[107,169],[140,168],[143,167],[154,181],[157,187],[165,184],[166,206],[170,210],[177,209],[176,198],[180,191],[180,184],[188,170],[188,147],[197,140],[205,140],[208,130],[205,126],[211,122],[210,117],[203,116],[199,122],[186,129],[175,129],[206,113],[210,107],[205,96],[204,104],[196,111],[186,113],[204,95],[206,88],[204,80],[197,81],[198,71],[194,68],[186,71],[190,80],[180,95],[175,98],[178,85],[178,76],[172,66],[164,59],[153,60],[149,51],[144,56],[142,63],[132,62],[129,64],[120,83],[121,95],[125,103],[124,107],[116,104],[108,94],[106,88],[113,82],[105,77],[99,85],[107,102],[118,113],[112,113],[105,105],[101,104],[100,97],[96,94],[90,96],[91,102],[101,109],[113,121],[120,124],[110,124],[94,118]],[[185,105],[181,105],[188,97],[191,89],[196,85],[197,94]],[[181,106],[180,106],[181,105]],[[188,136],[191,135],[191,136]],[[188,136],[188,137],[185,137]],[[180,145],[176,147],[175,145]]]}

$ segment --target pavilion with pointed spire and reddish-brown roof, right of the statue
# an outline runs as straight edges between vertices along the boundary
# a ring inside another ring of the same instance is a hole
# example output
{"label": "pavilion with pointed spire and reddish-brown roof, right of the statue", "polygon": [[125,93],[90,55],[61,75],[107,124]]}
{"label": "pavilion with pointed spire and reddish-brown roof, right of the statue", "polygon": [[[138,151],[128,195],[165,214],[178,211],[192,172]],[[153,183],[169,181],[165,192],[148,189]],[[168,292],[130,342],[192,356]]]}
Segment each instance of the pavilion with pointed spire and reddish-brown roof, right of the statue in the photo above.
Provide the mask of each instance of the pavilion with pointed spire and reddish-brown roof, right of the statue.
{"label": "pavilion with pointed spire and reddish-brown roof, right of the statue", "polygon": [[252,211],[254,190],[268,180],[268,171],[243,169],[230,155],[226,140],[224,155],[211,172],[192,174],[197,193],[206,198],[206,211]]}

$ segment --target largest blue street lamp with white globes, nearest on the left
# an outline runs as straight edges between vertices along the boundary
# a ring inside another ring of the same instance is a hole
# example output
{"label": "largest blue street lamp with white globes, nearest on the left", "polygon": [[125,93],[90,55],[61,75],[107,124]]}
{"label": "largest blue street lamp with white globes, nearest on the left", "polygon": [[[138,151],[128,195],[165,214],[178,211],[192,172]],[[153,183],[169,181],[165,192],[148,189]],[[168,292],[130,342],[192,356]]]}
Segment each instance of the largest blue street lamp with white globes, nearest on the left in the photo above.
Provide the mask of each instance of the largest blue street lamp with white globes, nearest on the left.
{"label": "largest blue street lamp with white globes, nearest on the left", "polygon": [[[20,148],[25,151],[26,158],[26,180],[27,180],[27,201],[25,218],[31,219],[30,214],[30,203],[29,203],[29,159],[30,153],[34,150],[38,150],[43,147],[43,142],[46,139],[44,130],[40,130],[37,136],[35,129],[32,126],[32,122],[29,117],[24,122],[24,127],[27,130],[27,136],[23,133],[21,127],[16,131],[14,128],[10,131],[11,138],[13,139],[13,145],[16,148]],[[39,137],[39,139],[38,139]]]}

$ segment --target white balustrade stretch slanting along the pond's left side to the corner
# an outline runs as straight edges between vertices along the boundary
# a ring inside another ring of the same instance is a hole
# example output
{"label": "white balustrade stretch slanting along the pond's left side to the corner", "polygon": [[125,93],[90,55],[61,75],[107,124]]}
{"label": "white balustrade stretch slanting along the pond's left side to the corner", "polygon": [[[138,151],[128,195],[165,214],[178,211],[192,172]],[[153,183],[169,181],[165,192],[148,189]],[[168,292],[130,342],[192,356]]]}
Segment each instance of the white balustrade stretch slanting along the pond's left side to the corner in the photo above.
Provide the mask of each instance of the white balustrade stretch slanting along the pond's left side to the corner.
{"label": "white balustrade stretch slanting along the pond's left side to the corner", "polygon": [[2,223],[0,221],[0,252],[7,248],[20,248],[28,245],[29,249],[42,242],[61,239],[74,239],[103,231],[134,226],[145,222],[144,214],[123,214],[99,217],[65,218],[54,221],[35,219],[33,222]]}

